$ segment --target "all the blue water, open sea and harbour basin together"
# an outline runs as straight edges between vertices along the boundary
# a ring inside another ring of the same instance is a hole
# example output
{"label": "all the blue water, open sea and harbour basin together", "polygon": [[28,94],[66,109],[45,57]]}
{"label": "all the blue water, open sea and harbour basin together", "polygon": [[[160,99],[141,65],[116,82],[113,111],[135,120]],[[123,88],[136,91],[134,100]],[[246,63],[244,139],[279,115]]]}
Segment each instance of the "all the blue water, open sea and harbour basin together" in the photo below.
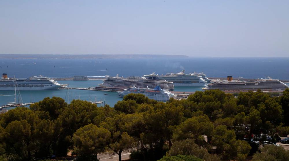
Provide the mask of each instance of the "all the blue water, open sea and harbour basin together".
{"label": "all the blue water, open sea and harbour basin together", "polygon": [[[266,78],[289,80],[289,57],[286,58],[162,58],[162,59],[1,59],[0,73],[8,77],[28,78],[43,75],[50,78],[88,76],[104,78],[105,75],[120,77],[142,76],[155,72],[156,74],[205,73],[207,77],[222,77],[227,75],[249,79]],[[58,81],[69,84],[69,87],[94,87],[102,80]],[[200,91],[203,86],[175,87],[178,92]],[[108,94],[108,95],[104,95]],[[121,101],[117,92],[90,90],[39,90],[20,91],[24,103],[38,102],[45,97],[57,96],[65,99],[80,99],[86,101],[103,101],[114,106]],[[0,106],[14,102],[14,91],[0,91]],[[17,95],[18,99],[19,96]],[[101,104],[99,104],[101,106]]]}

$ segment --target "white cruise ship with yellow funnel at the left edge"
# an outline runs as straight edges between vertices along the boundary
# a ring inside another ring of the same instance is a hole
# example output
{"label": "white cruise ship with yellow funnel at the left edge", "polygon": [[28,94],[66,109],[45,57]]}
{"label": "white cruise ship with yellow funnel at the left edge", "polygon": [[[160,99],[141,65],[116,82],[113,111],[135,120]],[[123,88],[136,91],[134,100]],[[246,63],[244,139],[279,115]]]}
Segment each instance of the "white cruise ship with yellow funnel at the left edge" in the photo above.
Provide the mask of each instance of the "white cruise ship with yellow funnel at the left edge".
{"label": "white cruise ship with yellow funnel at the left edge", "polygon": [[15,79],[8,78],[6,73],[2,74],[0,79],[0,90],[15,90],[15,84],[16,90],[57,90],[60,87],[66,86],[66,84],[59,84],[42,75],[27,79]]}

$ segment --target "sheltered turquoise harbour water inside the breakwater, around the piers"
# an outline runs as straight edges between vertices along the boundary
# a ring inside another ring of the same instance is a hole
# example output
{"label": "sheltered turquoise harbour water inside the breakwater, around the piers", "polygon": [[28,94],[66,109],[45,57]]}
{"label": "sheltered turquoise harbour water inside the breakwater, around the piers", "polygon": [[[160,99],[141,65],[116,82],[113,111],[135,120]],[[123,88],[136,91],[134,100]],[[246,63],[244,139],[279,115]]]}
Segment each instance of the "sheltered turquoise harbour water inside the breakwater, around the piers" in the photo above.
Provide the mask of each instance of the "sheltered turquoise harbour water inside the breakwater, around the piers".
{"label": "sheltered turquoise harbour water inside the breakwater, around the piers", "polygon": [[[121,92],[122,89],[117,90],[107,90],[103,89],[98,86],[98,84],[101,84],[102,80],[90,80],[90,81],[83,81],[83,80],[68,80],[68,81],[58,81],[60,84],[69,84],[69,90],[66,89],[60,89],[60,90],[21,90],[21,96],[23,99],[23,102],[29,103],[29,102],[38,102],[43,100],[45,97],[52,97],[57,96],[62,99],[65,99],[65,95],[67,93],[67,90],[71,98],[73,99],[80,99],[85,101],[95,101],[95,95],[97,96],[97,101],[103,101],[103,103],[97,104],[98,106],[101,106],[101,104],[108,104],[111,107],[114,106],[114,104],[117,101],[121,101],[122,98],[120,98],[117,94],[117,92]],[[85,82],[85,83],[84,83]],[[89,89],[89,87],[94,87],[99,90],[93,90]],[[193,94],[195,91],[202,91],[202,88],[204,86],[176,86],[174,90],[174,94],[176,96],[184,96],[188,94]],[[71,96],[71,88],[73,88],[73,96]],[[108,94],[108,95],[105,95]],[[8,90],[8,91],[0,91],[0,106],[6,105],[7,102],[13,102],[14,101],[14,91]],[[68,103],[68,99],[65,100]],[[5,109],[12,109],[14,107],[7,107]]]}

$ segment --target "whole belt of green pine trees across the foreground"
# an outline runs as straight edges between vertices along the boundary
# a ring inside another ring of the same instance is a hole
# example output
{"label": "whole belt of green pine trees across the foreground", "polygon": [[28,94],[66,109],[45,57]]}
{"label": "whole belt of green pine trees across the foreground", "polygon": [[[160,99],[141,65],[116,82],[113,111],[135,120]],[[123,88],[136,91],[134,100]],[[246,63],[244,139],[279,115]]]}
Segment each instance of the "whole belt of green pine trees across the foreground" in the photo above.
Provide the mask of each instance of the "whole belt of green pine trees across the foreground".
{"label": "whole belt of green pine trees across the foreground", "polygon": [[0,160],[66,156],[68,149],[74,150],[77,160],[96,160],[101,151],[118,154],[121,160],[123,151],[134,149],[131,159],[138,160],[158,160],[166,154],[163,160],[242,161],[251,147],[251,154],[258,147],[241,140],[261,132],[286,136],[288,118],[288,89],[280,98],[261,91],[241,92],[234,98],[211,90],[166,103],[129,94],[114,108],[45,98],[30,109],[0,114]]}

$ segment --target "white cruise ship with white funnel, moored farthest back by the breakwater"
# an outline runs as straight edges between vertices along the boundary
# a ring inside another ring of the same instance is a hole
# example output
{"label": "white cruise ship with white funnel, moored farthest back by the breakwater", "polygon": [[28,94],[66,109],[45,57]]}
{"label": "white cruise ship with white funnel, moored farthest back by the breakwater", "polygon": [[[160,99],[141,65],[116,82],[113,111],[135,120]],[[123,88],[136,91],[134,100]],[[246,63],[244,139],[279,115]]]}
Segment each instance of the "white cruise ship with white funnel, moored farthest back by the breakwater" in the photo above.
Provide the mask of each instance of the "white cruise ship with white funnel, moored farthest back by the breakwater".
{"label": "white cruise ship with white funnel, moored farthest back by the breakwater", "polygon": [[158,77],[173,82],[174,86],[206,86],[207,81],[202,77],[205,75],[185,74],[185,70],[179,73],[167,73],[165,75],[156,75],[154,72],[144,77]]}

